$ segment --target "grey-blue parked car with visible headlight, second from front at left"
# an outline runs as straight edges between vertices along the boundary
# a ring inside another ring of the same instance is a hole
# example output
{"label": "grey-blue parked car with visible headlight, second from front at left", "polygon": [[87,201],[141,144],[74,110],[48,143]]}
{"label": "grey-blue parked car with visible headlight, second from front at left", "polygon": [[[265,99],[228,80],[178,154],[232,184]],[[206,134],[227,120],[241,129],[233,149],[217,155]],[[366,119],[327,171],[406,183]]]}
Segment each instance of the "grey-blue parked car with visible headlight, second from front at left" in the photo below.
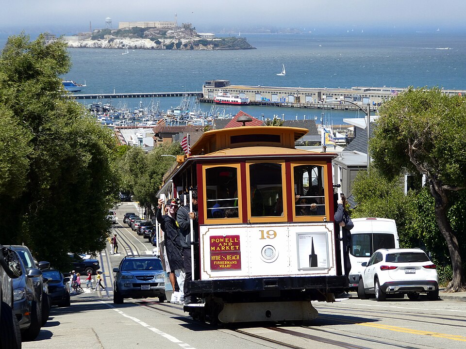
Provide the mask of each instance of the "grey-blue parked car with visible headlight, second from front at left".
{"label": "grey-blue parked car with visible headlight, second from front at left", "polygon": [[22,340],[32,341],[42,327],[41,301],[34,285],[34,279],[42,278],[42,271],[37,268],[26,269],[22,258],[18,256],[18,259],[22,274],[13,280],[13,310],[19,322]]}

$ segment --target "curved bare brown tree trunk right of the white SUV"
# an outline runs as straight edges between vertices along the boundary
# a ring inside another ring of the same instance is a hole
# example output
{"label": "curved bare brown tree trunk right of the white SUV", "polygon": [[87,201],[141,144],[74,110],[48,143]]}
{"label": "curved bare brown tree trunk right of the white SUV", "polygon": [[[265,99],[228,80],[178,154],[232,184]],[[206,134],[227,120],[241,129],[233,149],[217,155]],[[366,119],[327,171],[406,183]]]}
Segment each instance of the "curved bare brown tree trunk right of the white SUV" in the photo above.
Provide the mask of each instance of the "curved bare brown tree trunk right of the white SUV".
{"label": "curved bare brown tree trunk right of the white SUV", "polygon": [[458,240],[451,231],[451,226],[447,218],[446,204],[435,200],[435,218],[438,227],[443,237],[447,241],[448,250],[451,258],[451,267],[453,269],[453,277],[448,284],[445,292],[463,292],[466,291],[466,282],[463,275],[463,264],[461,260],[460,248]]}

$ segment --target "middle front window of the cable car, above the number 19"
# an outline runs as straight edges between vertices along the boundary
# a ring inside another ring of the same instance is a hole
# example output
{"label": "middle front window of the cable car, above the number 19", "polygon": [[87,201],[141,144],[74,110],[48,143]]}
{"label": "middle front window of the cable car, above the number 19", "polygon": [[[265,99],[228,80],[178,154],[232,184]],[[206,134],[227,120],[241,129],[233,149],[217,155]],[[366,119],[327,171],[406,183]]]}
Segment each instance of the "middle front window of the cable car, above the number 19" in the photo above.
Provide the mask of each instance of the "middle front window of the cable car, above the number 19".
{"label": "middle front window of the cable car, above the number 19", "polygon": [[282,165],[250,164],[251,217],[283,216]]}

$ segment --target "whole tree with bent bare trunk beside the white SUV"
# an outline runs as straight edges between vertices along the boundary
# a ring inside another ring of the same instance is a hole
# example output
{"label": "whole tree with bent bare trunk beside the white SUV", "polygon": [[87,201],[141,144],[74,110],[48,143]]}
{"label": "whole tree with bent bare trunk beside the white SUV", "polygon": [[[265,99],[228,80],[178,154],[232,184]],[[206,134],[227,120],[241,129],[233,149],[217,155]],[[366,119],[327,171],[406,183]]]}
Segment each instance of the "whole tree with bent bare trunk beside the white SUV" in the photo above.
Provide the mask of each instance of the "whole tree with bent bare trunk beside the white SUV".
{"label": "whole tree with bent bare trunk beside the white SUV", "polygon": [[466,100],[438,88],[414,89],[385,102],[370,140],[374,165],[386,176],[424,174],[435,219],[447,242],[453,278],[447,292],[466,290],[458,239],[448,219],[449,196],[466,188]]}

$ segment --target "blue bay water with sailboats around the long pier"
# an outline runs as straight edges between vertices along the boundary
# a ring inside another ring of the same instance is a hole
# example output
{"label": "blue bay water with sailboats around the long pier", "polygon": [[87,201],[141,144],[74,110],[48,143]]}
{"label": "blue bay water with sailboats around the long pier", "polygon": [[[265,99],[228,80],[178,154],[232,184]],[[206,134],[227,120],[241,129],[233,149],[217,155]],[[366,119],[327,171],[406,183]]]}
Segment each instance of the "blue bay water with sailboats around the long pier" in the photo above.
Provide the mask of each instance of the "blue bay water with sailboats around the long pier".
{"label": "blue bay water with sailboats around the long pier", "polygon": [[[220,35],[219,35],[220,36]],[[201,91],[205,80],[227,79],[233,85],[351,88],[374,86],[466,89],[466,37],[443,32],[366,34],[242,34],[254,50],[142,50],[70,48],[72,68],[63,79],[86,83],[82,94]],[[286,68],[285,76],[277,76]],[[77,93],[79,94],[79,93]],[[166,110],[181,98],[159,100]],[[130,110],[150,98],[105,100]],[[90,103],[86,100],[83,103]],[[208,111],[210,104],[201,104]],[[220,109],[221,110],[221,109]],[[264,106],[227,106],[254,117],[284,119],[323,117],[334,125],[355,111]],[[325,114],[325,115],[323,115]]]}

